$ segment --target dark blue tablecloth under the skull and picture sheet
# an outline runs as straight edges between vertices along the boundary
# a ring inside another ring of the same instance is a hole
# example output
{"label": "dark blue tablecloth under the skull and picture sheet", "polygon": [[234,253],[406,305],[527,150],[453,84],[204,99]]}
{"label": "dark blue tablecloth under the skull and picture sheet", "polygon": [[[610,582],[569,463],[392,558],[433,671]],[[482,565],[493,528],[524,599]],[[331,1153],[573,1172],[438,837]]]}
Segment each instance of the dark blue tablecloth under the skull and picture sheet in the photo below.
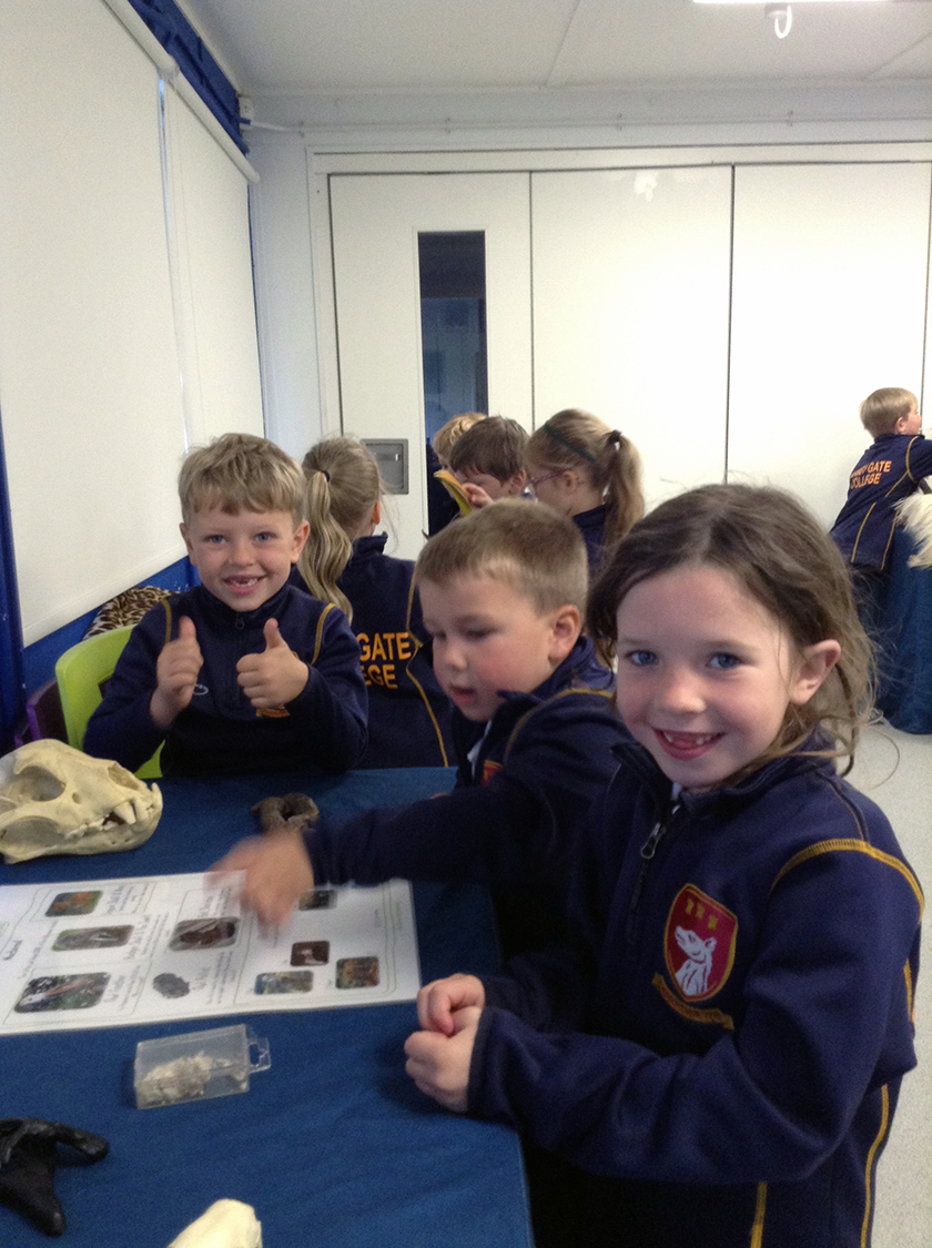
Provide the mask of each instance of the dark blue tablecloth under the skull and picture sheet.
{"label": "dark blue tablecloth under the skull and picture sheet", "polygon": [[[0,882],[203,871],[256,831],[250,807],[294,789],[336,815],[448,789],[440,769],[163,781],[165,811],[129,854],[37,859]],[[424,981],[498,958],[492,909],[475,886],[415,885]],[[131,1066],[152,1036],[247,1022],[272,1068],[245,1096],[140,1111]],[[528,1248],[524,1174],[510,1129],[445,1113],[404,1073],[413,1003],[266,1013],[0,1038],[0,1117],[67,1122],[110,1141],[96,1164],[60,1146],[56,1193],[69,1248],[166,1248],[213,1201],[252,1204],[266,1248]],[[0,1207],[0,1244],[50,1241]]]}

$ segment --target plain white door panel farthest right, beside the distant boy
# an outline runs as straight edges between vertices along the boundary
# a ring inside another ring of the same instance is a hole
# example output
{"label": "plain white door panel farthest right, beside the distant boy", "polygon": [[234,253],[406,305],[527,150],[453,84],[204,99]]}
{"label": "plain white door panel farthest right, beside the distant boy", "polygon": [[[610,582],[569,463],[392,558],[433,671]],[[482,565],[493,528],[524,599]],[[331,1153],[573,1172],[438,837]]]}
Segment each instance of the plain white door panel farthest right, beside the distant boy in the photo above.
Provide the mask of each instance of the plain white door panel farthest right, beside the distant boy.
{"label": "plain white door panel farthest right, beside the distant boy", "polygon": [[922,386],[930,165],[736,171],[729,479],[830,525],[881,386]]}

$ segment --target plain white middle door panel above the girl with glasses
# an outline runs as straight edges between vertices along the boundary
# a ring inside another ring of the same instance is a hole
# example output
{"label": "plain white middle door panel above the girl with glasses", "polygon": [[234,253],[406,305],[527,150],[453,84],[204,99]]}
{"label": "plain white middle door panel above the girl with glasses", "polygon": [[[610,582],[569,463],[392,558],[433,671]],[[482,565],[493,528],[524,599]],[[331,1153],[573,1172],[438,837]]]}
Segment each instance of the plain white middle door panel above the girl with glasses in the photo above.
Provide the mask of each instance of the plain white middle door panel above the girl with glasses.
{"label": "plain white middle door panel above the girl with glasses", "polygon": [[725,474],[731,168],[534,173],[534,403],[644,462],[648,505]]}

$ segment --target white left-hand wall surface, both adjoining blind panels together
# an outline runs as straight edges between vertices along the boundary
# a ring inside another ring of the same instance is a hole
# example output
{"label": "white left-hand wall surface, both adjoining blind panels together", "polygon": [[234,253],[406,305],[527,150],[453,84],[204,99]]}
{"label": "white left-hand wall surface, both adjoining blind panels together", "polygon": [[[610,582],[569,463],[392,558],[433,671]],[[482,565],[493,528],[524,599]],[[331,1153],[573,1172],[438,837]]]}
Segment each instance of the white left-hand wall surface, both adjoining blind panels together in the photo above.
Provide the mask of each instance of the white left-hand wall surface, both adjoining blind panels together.
{"label": "white left-hand wall surface, both adjoining blind panels together", "polygon": [[188,444],[262,432],[252,171],[126,0],[7,0],[0,46],[0,407],[30,644],[183,554]]}

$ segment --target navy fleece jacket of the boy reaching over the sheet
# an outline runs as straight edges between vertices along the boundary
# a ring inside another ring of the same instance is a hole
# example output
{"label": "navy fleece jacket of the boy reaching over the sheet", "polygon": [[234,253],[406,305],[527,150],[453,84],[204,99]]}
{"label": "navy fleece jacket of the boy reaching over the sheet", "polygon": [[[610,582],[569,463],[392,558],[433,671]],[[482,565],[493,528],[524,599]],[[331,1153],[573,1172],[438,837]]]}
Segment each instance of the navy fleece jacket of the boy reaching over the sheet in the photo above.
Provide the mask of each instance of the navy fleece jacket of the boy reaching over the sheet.
{"label": "navy fleece jacket of the boy reaching over the sheet", "polygon": [[306,836],[314,879],[483,880],[495,886],[505,946],[539,945],[553,932],[551,890],[568,869],[574,829],[615,770],[613,746],[628,736],[611,710],[611,684],[580,638],[534,693],[505,694],[488,731],[457,710],[455,787],[400,810],[322,819]]}

